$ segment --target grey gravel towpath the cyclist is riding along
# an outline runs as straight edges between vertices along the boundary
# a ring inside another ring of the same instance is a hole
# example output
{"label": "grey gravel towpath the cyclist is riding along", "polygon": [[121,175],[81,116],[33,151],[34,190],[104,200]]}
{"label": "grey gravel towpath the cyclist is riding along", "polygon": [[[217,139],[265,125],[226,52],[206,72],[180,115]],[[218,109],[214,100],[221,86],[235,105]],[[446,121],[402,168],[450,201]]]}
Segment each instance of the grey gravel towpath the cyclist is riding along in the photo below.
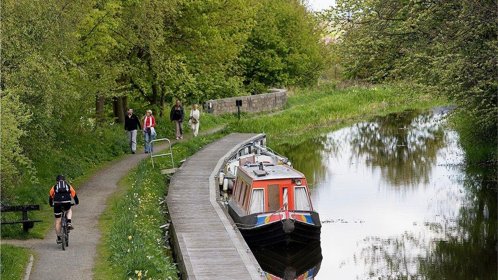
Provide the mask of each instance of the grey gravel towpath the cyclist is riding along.
{"label": "grey gravel towpath the cyclist is riding along", "polygon": [[[211,134],[221,130],[220,126],[201,134]],[[184,140],[189,137],[185,137]],[[183,140],[172,140],[177,143]],[[156,145],[155,150],[166,148],[167,144]],[[56,244],[54,225],[44,239],[2,240],[2,243],[31,248],[36,253],[36,261],[30,279],[92,279],[92,268],[96,256],[96,246],[101,238],[97,228],[98,218],[106,208],[109,196],[118,188],[118,182],[141,160],[150,157],[142,151],[128,155],[106,168],[97,171],[91,179],[81,185],[77,192],[80,204],[73,207],[69,247],[62,251]],[[36,225],[35,225],[36,226]]]}

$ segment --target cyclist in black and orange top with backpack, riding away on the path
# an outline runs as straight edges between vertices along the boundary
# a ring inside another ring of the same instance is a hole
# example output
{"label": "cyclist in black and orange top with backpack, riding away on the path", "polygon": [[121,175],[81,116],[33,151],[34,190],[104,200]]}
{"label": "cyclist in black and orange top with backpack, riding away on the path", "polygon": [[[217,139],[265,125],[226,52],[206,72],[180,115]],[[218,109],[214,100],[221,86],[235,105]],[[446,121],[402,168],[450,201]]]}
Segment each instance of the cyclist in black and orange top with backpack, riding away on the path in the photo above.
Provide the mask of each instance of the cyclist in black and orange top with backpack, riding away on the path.
{"label": "cyclist in black and orange top with backpack, riding away on the path", "polygon": [[71,185],[67,184],[66,177],[63,174],[57,175],[55,184],[50,189],[50,197],[48,198],[48,204],[51,207],[54,207],[54,216],[55,216],[55,233],[57,234],[57,244],[62,244],[61,239],[61,216],[62,210],[66,211],[67,217],[67,228],[68,230],[74,230],[74,227],[71,224],[71,197],[74,198],[74,204],[78,205],[80,200],[76,195],[76,191],[72,188]]}

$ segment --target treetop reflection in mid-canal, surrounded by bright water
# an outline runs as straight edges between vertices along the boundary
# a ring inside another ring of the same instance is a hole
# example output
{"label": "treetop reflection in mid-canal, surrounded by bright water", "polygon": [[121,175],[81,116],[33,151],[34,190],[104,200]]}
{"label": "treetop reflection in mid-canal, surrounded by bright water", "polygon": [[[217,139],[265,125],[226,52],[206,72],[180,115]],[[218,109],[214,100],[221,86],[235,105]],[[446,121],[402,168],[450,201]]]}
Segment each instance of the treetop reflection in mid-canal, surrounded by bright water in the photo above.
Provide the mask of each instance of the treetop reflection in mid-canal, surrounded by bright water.
{"label": "treetop reflection in mid-canal, surrounded by bright water", "polygon": [[432,111],[406,111],[358,123],[347,138],[352,157],[379,168],[383,179],[395,186],[427,184],[437,152],[445,146],[437,120]]}

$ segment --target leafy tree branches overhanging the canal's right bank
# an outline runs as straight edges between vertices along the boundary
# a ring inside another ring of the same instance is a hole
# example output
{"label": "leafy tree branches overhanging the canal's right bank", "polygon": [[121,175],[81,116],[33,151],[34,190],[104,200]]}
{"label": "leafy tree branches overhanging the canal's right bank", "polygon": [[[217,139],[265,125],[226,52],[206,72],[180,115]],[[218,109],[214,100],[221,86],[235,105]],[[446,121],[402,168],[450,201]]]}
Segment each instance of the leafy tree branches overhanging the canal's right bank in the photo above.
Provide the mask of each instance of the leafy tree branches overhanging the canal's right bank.
{"label": "leafy tree branches overhanging the canal's right bank", "polygon": [[[414,87],[456,104],[467,142],[497,146],[494,1],[338,1],[345,74]],[[496,153],[479,157],[496,162]],[[469,160],[471,160],[470,157]],[[476,159],[476,158],[474,158]]]}

